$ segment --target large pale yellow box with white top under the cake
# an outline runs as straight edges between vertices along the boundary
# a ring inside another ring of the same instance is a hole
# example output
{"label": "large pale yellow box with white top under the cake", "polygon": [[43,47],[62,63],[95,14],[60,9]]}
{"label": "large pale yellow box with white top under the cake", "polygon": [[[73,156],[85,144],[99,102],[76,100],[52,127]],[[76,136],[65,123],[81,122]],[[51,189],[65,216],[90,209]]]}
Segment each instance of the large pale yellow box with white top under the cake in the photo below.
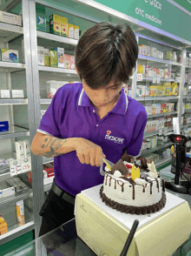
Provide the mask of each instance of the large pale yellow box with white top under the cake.
{"label": "large pale yellow box with white top under the cake", "polygon": [[96,255],[120,255],[135,219],[139,226],[128,256],[168,256],[189,238],[191,211],[187,201],[166,192],[167,204],[159,212],[135,215],[105,205],[100,187],[77,194],[75,206],[77,235]]}

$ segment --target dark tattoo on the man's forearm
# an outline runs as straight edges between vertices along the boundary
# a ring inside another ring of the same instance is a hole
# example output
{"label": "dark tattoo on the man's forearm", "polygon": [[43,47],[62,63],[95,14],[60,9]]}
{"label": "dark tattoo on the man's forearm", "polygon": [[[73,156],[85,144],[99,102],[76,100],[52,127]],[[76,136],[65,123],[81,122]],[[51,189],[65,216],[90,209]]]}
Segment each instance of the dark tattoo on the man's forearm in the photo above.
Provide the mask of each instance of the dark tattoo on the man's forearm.
{"label": "dark tattoo on the man's forearm", "polygon": [[67,142],[67,139],[63,139],[63,138],[55,138],[55,137],[52,138],[51,136],[49,136],[49,138],[45,138],[43,145],[41,145],[41,148],[47,149],[48,151],[40,154],[40,156],[51,158],[51,157],[57,157],[57,156],[63,155],[64,152],[58,153],[56,151],[60,149],[62,145],[66,142]]}

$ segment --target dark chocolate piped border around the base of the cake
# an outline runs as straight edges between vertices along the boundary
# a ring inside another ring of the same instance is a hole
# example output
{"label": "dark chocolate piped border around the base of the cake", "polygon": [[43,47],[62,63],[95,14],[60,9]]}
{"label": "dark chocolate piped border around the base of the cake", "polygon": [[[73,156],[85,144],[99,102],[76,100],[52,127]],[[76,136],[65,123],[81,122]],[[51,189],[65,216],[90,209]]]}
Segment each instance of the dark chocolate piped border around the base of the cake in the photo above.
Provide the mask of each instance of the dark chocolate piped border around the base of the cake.
{"label": "dark chocolate piped border around the base of the cake", "polygon": [[161,200],[156,203],[155,205],[148,205],[148,206],[130,206],[130,205],[122,205],[119,203],[116,203],[114,200],[109,199],[104,193],[103,193],[103,185],[100,189],[100,197],[102,199],[102,202],[104,202],[106,205],[109,205],[109,207],[115,209],[116,211],[130,213],[130,214],[137,214],[137,215],[145,215],[149,214],[151,212],[158,212],[161,210],[161,208],[164,207],[166,204],[166,195],[165,192],[162,192]]}

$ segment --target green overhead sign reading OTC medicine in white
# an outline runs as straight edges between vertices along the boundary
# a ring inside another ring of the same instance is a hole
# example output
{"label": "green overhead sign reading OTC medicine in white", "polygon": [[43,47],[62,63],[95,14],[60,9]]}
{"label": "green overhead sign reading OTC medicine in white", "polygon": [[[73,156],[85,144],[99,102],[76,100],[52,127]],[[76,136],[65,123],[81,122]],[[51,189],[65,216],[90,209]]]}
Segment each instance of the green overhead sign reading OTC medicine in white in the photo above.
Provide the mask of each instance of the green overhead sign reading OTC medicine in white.
{"label": "green overhead sign reading OTC medicine in white", "polygon": [[[175,1],[190,2],[187,7],[191,8],[191,0]],[[191,42],[191,16],[172,4],[173,0],[96,0],[95,2]]]}

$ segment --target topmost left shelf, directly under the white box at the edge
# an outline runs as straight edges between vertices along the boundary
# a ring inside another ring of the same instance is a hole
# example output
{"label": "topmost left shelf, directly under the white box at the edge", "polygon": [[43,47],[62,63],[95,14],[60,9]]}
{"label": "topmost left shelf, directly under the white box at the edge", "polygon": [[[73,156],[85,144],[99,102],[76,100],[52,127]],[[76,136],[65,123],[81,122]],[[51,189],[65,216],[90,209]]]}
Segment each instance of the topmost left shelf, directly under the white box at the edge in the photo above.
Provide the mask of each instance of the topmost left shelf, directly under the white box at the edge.
{"label": "topmost left shelf, directly under the white box at the edge", "polygon": [[21,35],[23,35],[23,27],[0,23],[0,39],[3,40],[3,42],[9,43],[11,40]]}

